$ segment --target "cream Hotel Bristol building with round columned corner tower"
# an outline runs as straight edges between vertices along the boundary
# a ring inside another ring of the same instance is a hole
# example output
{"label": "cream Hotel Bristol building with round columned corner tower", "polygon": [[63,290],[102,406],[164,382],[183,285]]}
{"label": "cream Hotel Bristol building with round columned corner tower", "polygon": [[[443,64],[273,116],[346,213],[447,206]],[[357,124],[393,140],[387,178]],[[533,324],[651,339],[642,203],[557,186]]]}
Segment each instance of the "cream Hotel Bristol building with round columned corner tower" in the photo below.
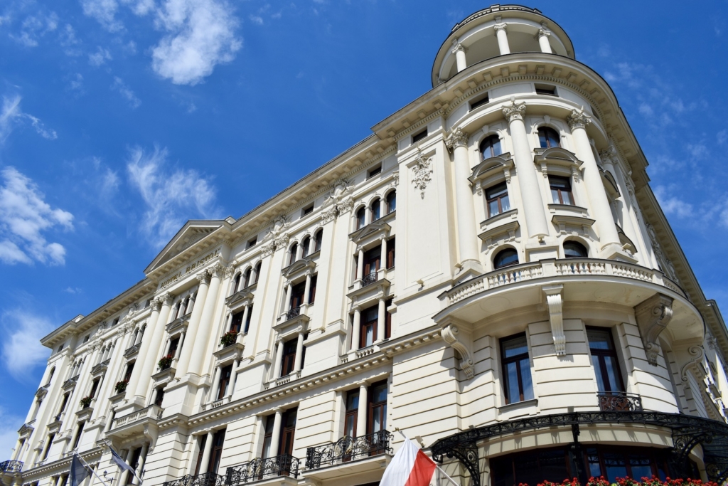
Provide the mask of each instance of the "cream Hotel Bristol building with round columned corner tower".
{"label": "cream Hotel Bristol building with round columned corner tower", "polygon": [[553,20],[498,5],[452,29],[432,86],[44,337],[2,482],[65,486],[77,451],[138,483],[113,447],[149,486],[369,485],[397,428],[462,485],[724,481],[726,326],[612,89]]}

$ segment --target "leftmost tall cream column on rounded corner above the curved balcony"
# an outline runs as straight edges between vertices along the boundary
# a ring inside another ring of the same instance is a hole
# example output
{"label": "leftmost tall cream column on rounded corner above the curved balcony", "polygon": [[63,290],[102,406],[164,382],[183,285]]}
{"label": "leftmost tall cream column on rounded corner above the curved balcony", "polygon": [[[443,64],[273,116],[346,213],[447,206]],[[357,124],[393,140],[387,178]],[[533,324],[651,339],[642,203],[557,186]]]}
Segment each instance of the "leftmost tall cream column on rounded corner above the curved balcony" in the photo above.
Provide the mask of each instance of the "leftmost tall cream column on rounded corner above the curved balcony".
{"label": "leftmost tall cream column on rounded corner above the curved balcony", "polygon": [[470,182],[470,161],[467,154],[467,133],[456,128],[446,141],[455,159],[455,203],[457,206],[457,230],[460,264],[472,262],[480,267],[478,235],[475,232],[475,207],[472,202]]}

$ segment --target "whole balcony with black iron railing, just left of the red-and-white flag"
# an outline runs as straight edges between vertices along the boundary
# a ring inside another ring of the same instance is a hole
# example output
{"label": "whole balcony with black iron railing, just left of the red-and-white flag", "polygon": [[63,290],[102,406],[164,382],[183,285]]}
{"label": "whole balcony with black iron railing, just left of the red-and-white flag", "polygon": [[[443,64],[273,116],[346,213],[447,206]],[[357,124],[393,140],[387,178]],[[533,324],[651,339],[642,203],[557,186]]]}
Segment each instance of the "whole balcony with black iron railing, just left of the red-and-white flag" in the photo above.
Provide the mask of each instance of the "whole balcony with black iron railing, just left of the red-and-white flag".
{"label": "whole balcony with black iron railing, just left of the red-and-white flag", "polygon": [[392,433],[344,436],[336,442],[306,450],[306,479],[325,481],[381,470],[392,457]]}

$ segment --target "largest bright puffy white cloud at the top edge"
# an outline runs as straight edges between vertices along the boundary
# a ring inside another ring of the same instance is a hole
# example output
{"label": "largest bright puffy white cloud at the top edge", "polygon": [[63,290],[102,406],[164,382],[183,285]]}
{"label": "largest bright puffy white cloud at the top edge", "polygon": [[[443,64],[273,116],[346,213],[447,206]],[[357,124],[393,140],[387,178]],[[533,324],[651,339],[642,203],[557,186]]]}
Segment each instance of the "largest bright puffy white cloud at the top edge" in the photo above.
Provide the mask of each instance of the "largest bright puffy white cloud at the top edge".
{"label": "largest bright puffy white cloud at the top edge", "polygon": [[152,68],[175,85],[197,85],[242,46],[237,19],[223,0],[165,0],[157,25],[168,34],[152,50]]}

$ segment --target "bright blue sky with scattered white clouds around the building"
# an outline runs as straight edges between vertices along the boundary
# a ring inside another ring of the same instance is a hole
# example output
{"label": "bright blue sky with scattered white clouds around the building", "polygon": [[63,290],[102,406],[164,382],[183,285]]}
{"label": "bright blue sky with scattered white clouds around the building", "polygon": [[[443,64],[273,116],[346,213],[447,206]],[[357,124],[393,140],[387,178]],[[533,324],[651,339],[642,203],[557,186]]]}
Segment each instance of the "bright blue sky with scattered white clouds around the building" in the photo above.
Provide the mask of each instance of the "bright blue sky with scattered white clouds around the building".
{"label": "bright blue sky with scattered white clouds around the building", "polygon": [[[143,278],[186,219],[239,217],[430,89],[483,1],[0,0],[0,460],[38,339]],[[728,3],[537,1],[611,84],[728,312]],[[13,393],[9,393],[12,390]]]}

